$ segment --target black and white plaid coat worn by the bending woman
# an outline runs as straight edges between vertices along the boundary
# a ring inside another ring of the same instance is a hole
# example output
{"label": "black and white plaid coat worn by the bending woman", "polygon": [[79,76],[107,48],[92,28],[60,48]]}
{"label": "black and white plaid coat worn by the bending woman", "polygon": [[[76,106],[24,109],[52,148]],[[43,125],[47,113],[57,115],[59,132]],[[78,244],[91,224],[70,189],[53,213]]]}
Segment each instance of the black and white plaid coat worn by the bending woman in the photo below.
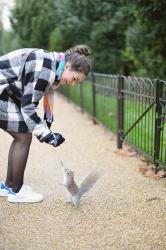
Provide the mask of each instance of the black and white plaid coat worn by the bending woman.
{"label": "black and white plaid coat worn by the bending woman", "polygon": [[0,128],[40,138],[50,133],[37,106],[56,81],[57,54],[19,49],[0,57]]}

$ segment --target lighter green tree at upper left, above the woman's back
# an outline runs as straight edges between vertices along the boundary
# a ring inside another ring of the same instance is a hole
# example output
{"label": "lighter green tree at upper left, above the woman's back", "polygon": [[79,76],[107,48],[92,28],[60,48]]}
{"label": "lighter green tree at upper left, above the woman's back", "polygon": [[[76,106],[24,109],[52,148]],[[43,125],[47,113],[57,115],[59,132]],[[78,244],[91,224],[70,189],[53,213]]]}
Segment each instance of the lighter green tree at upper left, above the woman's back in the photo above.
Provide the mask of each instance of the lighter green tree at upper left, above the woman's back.
{"label": "lighter green tree at upper left, above the woman's back", "polygon": [[53,0],[16,0],[11,23],[23,47],[48,48],[56,23],[54,8]]}

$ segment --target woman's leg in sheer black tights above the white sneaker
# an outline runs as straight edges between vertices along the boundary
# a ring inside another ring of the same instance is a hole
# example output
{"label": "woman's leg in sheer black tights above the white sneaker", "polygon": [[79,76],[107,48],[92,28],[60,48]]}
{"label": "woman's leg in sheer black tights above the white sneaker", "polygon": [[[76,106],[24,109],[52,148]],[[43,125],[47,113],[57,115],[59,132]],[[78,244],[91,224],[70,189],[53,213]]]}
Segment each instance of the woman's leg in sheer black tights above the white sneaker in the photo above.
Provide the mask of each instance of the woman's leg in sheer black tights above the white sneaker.
{"label": "woman's leg in sheer black tights above the white sneaker", "polygon": [[5,185],[11,187],[14,192],[18,192],[24,182],[24,171],[32,141],[32,134],[9,131],[7,131],[7,133],[9,133],[14,140],[9,150]]}

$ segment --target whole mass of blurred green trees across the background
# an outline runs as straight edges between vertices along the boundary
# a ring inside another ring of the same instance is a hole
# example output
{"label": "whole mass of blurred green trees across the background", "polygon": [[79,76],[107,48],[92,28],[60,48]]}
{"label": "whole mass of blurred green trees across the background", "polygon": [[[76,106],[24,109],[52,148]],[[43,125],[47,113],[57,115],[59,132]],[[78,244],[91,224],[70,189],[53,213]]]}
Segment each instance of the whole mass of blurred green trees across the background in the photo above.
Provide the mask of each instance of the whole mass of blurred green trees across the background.
{"label": "whole mass of blurred green trees across the background", "polygon": [[16,0],[11,21],[23,47],[85,43],[94,71],[163,78],[165,12],[164,0]]}

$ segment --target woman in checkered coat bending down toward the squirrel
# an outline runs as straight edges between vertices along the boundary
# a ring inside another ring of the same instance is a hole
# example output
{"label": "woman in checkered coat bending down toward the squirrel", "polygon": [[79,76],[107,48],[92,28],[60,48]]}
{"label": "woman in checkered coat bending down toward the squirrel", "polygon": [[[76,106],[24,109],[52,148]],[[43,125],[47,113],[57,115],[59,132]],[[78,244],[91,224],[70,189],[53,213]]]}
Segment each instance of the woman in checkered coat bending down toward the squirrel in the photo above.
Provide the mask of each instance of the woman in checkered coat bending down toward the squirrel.
{"label": "woman in checkered coat bending down toward the squirrel", "polygon": [[[32,134],[54,147],[65,141],[50,130],[53,117],[48,93],[55,87],[83,81],[91,69],[89,55],[89,47],[78,45],[65,53],[20,49],[0,57],[0,128],[13,137],[0,195],[7,196],[9,202],[43,200],[41,194],[23,185]],[[43,96],[46,121],[37,113]]]}

